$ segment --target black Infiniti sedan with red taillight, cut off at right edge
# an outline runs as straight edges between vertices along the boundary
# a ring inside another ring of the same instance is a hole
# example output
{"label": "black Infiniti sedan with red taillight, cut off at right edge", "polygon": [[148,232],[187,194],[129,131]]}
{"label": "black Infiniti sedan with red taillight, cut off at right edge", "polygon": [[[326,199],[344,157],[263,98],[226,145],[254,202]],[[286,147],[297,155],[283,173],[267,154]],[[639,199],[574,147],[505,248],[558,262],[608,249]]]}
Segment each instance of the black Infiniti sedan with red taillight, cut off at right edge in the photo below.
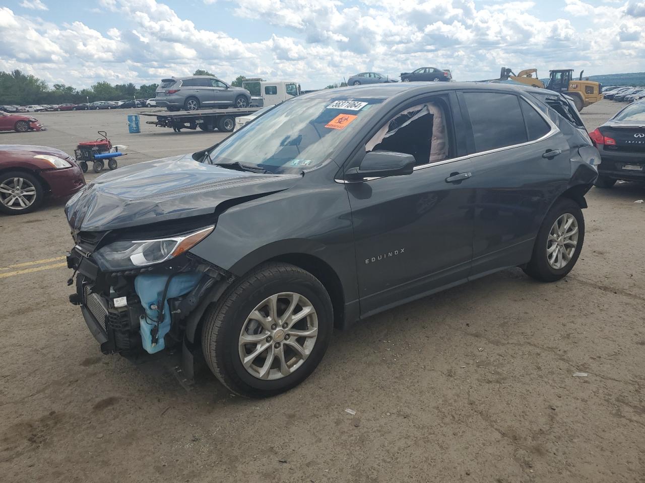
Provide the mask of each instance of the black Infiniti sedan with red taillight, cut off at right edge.
{"label": "black Infiniti sedan with red taillight, cut off at right edge", "polygon": [[633,102],[592,131],[589,136],[600,151],[599,188],[617,180],[645,181],[645,102]]}

